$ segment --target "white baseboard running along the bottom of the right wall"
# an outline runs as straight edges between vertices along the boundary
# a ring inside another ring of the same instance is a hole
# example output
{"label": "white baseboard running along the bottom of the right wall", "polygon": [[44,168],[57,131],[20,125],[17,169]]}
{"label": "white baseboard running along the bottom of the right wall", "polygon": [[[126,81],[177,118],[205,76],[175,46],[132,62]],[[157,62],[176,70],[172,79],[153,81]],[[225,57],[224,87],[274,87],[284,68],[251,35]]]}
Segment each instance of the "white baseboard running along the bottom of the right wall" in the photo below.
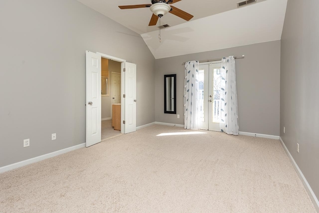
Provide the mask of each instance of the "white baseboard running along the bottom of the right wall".
{"label": "white baseboard running along the bottom of the right wall", "polygon": [[305,186],[305,188],[306,188],[306,191],[308,192],[310,199],[313,201],[314,206],[315,206],[317,212],[319,212],[319,201],[318,201],[318,199],[317,199],[317,197],[316,197],[314,191],[313,191],[312,188],[310,187],[310,185],[309,185],[307,179],[305,178],[304,174],[302,173],[302,171],[299,169],[299,167],[298,167],[298,165],[297,165],[295,159],[293,158],[293,156],[290,154],[289,150],[287,149],[287,147],[286,147],[286,145],[285,145],[283,139],[282,139],[281,137],[279,137],[279,140],[280,140],[282,146],[284,147],[284,150],[286,151],[286,153],[287,153],[287,155],[288,155],[290,161],[292,162],[292,164],[293,164],[293,166],[294,166],[294,168],[295,168],[295,170],[296,170],[296,172],[297,172],[299,178],[300,178],[301,181],[303,182],[303,184],[304,184],[304,186]]}

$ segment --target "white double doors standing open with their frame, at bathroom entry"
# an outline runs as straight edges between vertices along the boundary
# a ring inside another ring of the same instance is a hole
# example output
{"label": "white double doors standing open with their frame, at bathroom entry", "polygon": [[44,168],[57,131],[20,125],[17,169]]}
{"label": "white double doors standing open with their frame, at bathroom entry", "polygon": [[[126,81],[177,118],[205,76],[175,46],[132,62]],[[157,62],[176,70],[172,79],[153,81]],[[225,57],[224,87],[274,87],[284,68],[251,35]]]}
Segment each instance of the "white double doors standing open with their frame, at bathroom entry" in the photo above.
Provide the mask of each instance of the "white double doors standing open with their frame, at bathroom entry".
{"label": "white double doors standing open with their frame, at bathroom entry", "polygon": [[[121,63],[120,129],[127,134],[136,131],[136,73],[137,65],[104,53],[86,51],[86,128],[85,146],[101,142],[101,59],[107,58]],[[106,84],[107,81],[105,81]],[[105,89],[106,90],[106,89]],[[112,112],[113,117],[113,112]]]}

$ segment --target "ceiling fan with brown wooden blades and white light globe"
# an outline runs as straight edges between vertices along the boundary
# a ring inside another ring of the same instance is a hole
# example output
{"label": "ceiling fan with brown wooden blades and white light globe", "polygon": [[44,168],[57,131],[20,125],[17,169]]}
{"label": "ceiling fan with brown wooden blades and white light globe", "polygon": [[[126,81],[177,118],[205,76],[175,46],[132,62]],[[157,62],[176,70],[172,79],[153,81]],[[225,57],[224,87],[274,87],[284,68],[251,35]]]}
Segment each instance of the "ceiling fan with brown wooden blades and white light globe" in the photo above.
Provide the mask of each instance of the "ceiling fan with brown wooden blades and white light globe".
{"label": "ceiling fan with brown wooden blades and white light globe", "polygon": [[162,17],[167,12],[170,12],[178,17],[185,19],[186,21],[190,20],[193,15],[178,9],[174,6],[169,4],[175,3],[180,0],[151,0],[152,4],[135,4],[135,5],[124,5],[119,6],[121,9],[134,9],[134,8],[143,8],[143,7],[150,7],[153,15],[151,17],[149,26],[154,26],[159,20],[159,17]]}

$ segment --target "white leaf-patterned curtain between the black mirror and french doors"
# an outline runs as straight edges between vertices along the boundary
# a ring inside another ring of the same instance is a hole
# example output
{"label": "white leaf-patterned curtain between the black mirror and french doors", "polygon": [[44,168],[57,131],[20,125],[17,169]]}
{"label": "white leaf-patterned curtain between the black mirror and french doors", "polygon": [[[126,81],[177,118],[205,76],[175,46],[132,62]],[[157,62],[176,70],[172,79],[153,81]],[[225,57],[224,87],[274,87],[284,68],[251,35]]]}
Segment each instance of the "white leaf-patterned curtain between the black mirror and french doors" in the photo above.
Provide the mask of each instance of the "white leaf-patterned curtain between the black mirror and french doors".
{"label": "white leaf-patterned curtain between the black mirror and french doors", "polygon": [[198,129],[198,61],[185,63],[184,128]]}

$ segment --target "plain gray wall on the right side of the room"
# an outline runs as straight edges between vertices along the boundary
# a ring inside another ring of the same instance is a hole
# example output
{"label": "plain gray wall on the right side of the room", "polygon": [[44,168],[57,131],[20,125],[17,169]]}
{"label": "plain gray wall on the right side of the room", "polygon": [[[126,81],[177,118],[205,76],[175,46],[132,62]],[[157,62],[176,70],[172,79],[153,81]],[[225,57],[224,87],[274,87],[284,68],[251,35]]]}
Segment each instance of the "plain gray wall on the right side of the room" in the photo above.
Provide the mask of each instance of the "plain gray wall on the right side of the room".
{"label": "plain gray wall on the right side of the room", "polygon": [[[319,198],[319,1],[289,0],[281,39],[280,136]],[[284,127],[286,128],[284,134]],[[300,152],[297,152],[297,143]]]}

